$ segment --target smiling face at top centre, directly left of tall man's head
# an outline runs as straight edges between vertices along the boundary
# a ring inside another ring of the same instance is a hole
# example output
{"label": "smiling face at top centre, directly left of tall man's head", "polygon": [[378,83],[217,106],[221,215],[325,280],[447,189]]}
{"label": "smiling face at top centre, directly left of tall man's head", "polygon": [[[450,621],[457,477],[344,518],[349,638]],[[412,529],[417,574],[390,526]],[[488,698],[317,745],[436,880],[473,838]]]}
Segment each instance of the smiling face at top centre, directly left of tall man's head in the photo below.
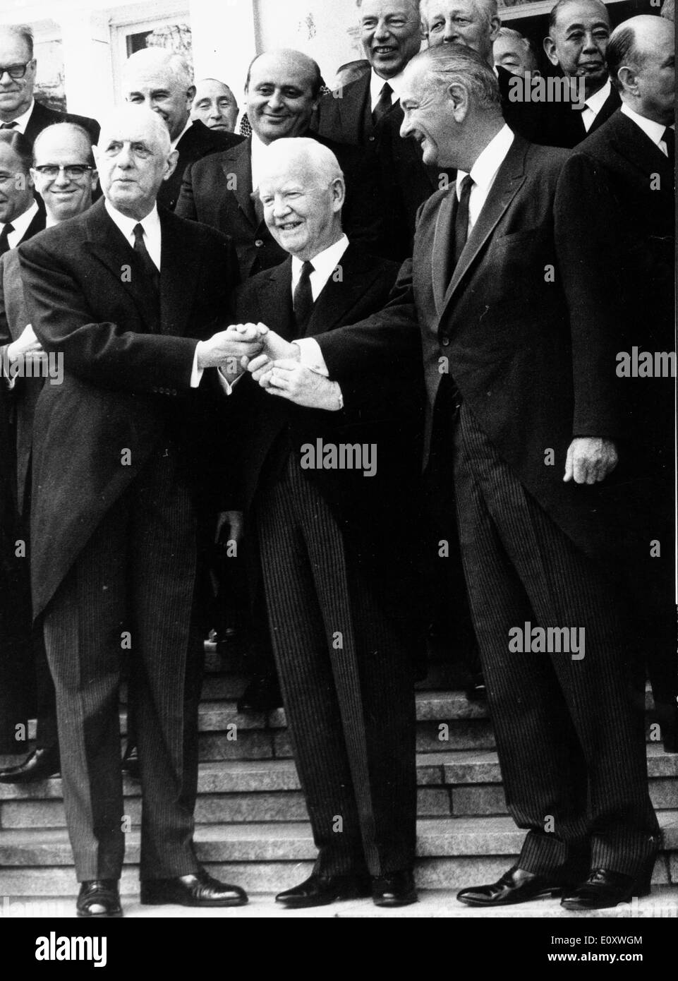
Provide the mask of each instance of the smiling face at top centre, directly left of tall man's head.
{"label": "smiling face at top centre, directly left of tall man's head", "polygon": [[363,0],[360,40],[378,76],[392,78],[421,47],[421,19],[411,0]]}

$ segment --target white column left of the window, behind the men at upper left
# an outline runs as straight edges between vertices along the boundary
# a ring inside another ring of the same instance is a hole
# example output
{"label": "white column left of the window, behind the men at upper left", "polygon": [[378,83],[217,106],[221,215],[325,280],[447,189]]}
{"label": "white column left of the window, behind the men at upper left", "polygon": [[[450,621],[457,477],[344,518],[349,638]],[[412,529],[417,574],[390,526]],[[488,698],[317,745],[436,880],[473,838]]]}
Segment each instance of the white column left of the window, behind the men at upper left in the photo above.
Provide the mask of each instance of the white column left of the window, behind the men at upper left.
{"label": "white column left of the window, behind the men at upper left", "polygon": [[67,110],[97,119],[113,104],[108,19],[91,10],[70,10],[57,17],[62,31]]}

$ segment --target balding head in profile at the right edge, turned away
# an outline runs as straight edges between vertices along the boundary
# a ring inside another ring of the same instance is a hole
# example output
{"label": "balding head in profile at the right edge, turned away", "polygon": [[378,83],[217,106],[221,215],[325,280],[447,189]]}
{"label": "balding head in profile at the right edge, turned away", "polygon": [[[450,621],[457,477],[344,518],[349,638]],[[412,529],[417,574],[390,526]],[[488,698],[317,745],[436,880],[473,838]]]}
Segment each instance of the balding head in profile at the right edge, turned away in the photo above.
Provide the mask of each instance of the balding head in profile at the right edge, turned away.
{"label": "balding head in profile at the right edge, turned away", "polygon": [[630,109],[663,126],[673,123],[675,35],[670,21],[642,15],[615,27],[607,63],[612,84]]}

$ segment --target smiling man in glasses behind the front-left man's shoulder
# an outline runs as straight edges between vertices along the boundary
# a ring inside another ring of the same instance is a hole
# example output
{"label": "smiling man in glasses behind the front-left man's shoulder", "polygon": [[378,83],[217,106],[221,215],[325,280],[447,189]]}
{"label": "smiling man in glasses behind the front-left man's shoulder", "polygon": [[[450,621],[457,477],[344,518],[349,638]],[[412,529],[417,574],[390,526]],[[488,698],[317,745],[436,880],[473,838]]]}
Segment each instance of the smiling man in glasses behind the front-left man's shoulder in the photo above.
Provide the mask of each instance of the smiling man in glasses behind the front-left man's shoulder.
{"label": "smiling man in glasses behind the front-left man's shoulder", "polygon": [[[17,137],[15,137],[17,138]],[[75,125],[58,124],[43,129],[33,145],[31,180],[44,202],[47,226],[58,225],[73,218],[91,205],[92,191],[97,184],[94,170],[91,137],[86,129]],[[46,374],[36,371],[28,376],[23,370],[26,361],[37,366],[42,348],[29,323],[26,296],[22,282],[17,249],[0,257],[0,358],[12,373],[8,380],[11,390],[14,447],[16,456],[17,502],[22,521],[21,537],[28,538],[30,514],[30,460],[35,404]],[[14,373],[17,373],[16,375]],[[22,564],[26,577],[25,608],[15,604],[15,616],[29,630],[30,600],[27,589],[29,551]],[[17,698],[15,720],[22,718],[31,693],[35,693],[34,714],[37,719],[35,749],[19,765],[0,771],[0,783],[31,783],[44,780],[59,771],[59,740],[54,685],[49,674],[41,630],[35,630],[31,651],[22,660],[21,686]],[[32,653],[32,656],[31,656]],[[4,687],[4,686],[3,686]],[[18,723],[14,723],[16,727]],[[14,728],[13,727],[13,728]],[[16,730],[25,731],[25,730]]]}

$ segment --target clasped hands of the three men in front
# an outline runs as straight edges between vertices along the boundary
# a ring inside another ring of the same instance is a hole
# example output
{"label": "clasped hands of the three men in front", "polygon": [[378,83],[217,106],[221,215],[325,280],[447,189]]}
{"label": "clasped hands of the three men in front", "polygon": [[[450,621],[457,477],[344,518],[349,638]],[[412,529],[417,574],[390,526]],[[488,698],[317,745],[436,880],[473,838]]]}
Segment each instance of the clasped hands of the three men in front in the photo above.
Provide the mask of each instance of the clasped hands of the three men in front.
{"label": "clasped hands of the three men in front", "polygon": [[265,324],[233,324],[198,343],[198,368],[218,368],[234,383],[245,371],[270,395],[311,409],[343,408],[337,382],[300,363],[298,344],[270,331]]}

